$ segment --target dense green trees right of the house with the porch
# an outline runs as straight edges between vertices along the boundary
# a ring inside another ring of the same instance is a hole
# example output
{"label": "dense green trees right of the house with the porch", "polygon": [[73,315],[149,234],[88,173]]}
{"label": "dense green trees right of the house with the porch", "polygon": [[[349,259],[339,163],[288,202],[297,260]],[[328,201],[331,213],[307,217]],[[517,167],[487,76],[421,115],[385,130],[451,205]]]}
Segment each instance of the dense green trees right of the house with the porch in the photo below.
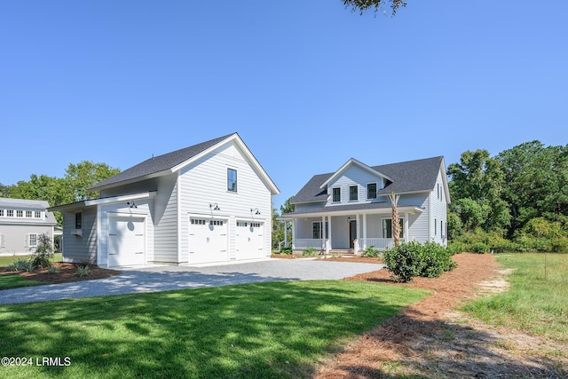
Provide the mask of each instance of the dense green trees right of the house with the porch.
{"label": "dense green trees right of the house with the porch", "polygon": [[568,252],[568,145],[466,151],[447,176],[455,249]]}

